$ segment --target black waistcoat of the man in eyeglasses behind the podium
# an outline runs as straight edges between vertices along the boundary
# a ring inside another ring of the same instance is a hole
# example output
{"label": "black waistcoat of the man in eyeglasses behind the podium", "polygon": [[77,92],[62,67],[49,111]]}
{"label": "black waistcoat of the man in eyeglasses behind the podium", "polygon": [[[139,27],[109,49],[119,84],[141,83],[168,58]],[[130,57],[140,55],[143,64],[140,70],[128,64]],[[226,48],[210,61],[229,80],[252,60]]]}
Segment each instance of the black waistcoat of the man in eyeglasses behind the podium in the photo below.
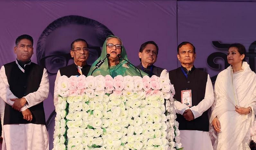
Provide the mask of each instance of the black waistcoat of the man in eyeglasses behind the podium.
{"label": "black waistcoat of the man in eyeglasses behind the podium", "polygon": [[[81,68],[83,75],[87,76],[91,66],[85,65]],[[77,66],[74,64],[68,65],[66,67],[62,67],[59,69],[60,75],[66,75],[67,77],[70,77],[72,75],[80,75],[80,73],[77,71]],[[88,75],[89,76],[89,75]]]}

